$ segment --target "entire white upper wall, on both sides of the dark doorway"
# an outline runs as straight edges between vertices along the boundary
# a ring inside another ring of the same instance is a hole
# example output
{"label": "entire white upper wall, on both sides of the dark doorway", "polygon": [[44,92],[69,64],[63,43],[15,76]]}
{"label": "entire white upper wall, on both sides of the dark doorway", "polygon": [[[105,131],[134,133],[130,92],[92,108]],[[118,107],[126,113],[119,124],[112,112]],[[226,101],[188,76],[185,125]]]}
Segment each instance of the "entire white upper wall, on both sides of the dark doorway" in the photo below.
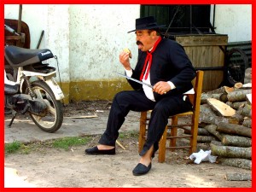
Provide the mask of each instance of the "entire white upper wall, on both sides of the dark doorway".
{"label": "entire white upper wall, on both sides of the dark doorway", "polygon": [[[61,81],[118,78],[119,52],[131,49],[137,60],[133,32],[140,5],[22,5],[22,20],[30,27],[31,48],[49,48],[58,56]],[[4,5],[4,18],[18,19],[19,5]],[[251,5],[216,5],[216,32],[228,34],[229,42],[252,40]],[[56,67],[55,62],[50,65]],[[58,79],[57,79],[58,80]]]}

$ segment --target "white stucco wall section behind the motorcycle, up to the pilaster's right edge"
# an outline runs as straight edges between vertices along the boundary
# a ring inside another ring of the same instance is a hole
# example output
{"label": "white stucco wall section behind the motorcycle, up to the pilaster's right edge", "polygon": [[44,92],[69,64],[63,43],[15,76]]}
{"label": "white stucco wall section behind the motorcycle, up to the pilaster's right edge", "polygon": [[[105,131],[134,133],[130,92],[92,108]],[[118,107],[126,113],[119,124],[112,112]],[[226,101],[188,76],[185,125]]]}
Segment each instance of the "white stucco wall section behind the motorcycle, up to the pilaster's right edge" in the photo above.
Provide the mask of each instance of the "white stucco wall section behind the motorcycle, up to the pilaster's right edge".
{"label": "white stucco wall section behind the motorcycle, up to the pilaster's right edge", "polygon": [[[69,6],[23,4],[21,19],[29,26],[31,37],[31,49],[36,49],[41,32],[44,37],[39,49],[50,49],[58,57],[61,81],[68,82],[69,77]],[[19,5],[4,5],[4,18],[19,18]],[[55,60],[49,60],[49,64],[57,68]],[[56,79],[59,81],[57,74]]]}

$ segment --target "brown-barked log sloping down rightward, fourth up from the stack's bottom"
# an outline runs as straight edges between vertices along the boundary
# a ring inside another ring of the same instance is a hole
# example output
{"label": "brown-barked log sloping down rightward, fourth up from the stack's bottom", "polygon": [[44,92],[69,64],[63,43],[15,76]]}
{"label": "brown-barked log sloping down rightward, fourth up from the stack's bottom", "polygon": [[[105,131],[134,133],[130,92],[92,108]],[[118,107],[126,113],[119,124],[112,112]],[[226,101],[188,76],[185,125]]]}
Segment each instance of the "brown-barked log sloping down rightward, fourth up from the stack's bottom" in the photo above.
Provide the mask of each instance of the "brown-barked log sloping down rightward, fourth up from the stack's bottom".
{"label": "brown-barked log sloping down rightward, fourth up from the stack's bottom", "polygon": [[243,125],[220,122],[216,128],[216,131],[234,134],[236,136],[252,137],[252,129]]}

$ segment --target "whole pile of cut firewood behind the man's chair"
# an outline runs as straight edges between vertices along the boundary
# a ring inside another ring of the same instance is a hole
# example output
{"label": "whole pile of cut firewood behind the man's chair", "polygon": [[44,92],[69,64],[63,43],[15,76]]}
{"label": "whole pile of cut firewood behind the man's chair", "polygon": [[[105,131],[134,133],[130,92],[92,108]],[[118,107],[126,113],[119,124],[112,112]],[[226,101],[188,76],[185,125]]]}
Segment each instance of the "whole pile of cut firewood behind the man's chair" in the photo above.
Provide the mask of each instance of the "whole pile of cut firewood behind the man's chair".
{"label": "whole pile of cut firewood behind the man's chair", "polygon": [[219,164],[252,169],[252,83],[202,93],[198,143],[210,143]]}

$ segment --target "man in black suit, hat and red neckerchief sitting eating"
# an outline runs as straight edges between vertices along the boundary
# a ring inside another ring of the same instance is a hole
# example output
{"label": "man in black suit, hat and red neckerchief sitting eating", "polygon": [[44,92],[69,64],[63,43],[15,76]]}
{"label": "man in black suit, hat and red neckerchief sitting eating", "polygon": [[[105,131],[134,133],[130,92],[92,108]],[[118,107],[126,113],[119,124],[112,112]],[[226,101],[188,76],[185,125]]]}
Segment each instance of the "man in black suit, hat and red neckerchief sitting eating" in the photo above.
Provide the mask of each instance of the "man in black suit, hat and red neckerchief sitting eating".
{"label": "man in black suit, hat and red neckerchief sitting eating", "polygon": [[152,110],[147,141],[139,154],[141,159],[132,171],[136,176],[151,169],[151,161],[159,148],[168,117],[192,109],[184,93],[193,90],[191,81],[196,75],[195,68],[180,44],[161,37],[160,27],[153,16],[136,20],[136,29],[131,31],[136,34],[139,49],[135,69],[131,68],[129,53],[123,51],[119,55],[127,76],[152,84],[154,88],[128,80],[134,90],[121,91],[114,96],[107,129],[99,144],[85,149],[85,154],[115,154],[119,128],[129,111]]}

